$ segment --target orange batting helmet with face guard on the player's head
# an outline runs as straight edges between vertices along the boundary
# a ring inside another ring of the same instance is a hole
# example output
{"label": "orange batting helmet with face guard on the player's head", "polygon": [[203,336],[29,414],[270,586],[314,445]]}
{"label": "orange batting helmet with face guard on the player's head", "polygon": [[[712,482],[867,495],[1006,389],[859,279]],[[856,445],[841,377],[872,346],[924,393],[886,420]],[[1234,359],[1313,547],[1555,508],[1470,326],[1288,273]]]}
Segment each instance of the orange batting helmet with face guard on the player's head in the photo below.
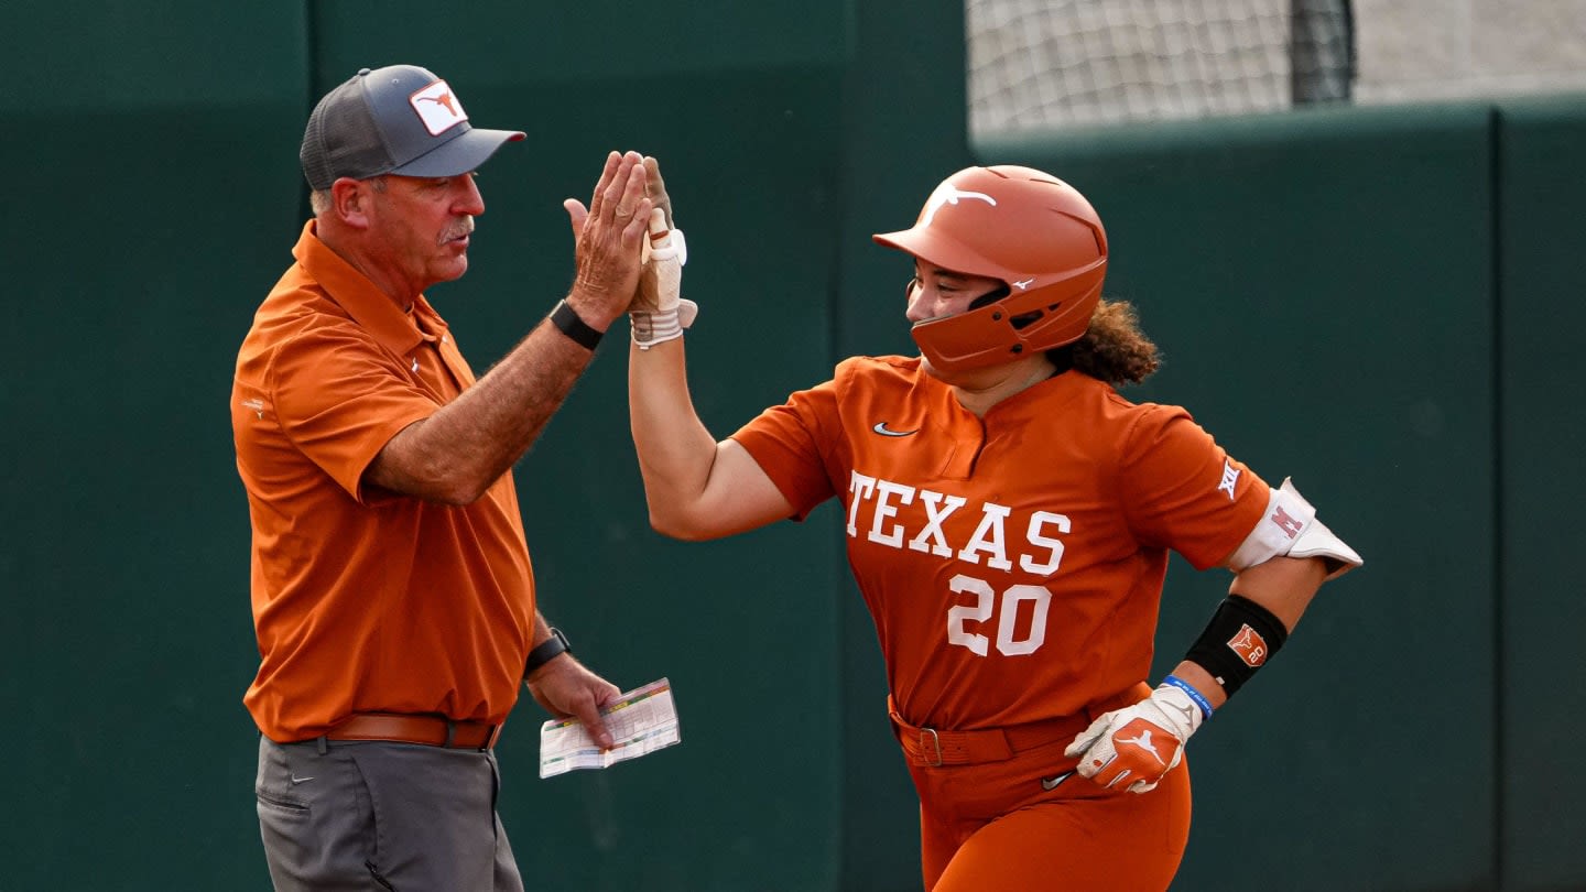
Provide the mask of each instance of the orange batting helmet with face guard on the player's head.
{"label": "orange batting helmet with face guard on the player's head", "polygon": [[875,235],[944,270],[1001,279],[1009,295],[915,324],[942,371],[985,368],[1077,341],[1107,275],[1107,233],[1090,202],[1028,167],[971,167],[931,192],[912,229]]}

